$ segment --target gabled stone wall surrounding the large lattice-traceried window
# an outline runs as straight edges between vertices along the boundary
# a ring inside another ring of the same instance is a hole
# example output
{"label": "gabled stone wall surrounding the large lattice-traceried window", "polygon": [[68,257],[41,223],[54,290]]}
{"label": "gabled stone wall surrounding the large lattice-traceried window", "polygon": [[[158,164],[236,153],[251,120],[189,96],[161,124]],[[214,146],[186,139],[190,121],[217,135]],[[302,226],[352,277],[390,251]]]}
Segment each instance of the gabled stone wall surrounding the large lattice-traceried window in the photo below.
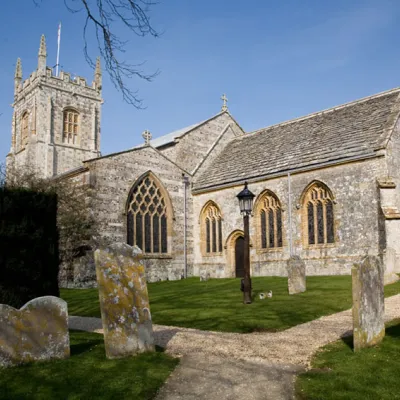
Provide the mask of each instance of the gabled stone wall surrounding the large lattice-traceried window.
{"label": "gabled stone wall surrounding the large lattice-traceried window", "polygon": [[[135,182],[151,171],[162,183],[172,203],[172,210],[169,210],[172,221],[170,251],[159,256],[144,255],[143,261],[149,281],[180,279],[184,273],[183,171],[152,147],[102,157],[85,165],[89,168],[91,184],[96,192],[93,213],[99,222],[102,239],[106,244],[127,241],[126,204],[129,191]],[[189,193],[187,211],[188,269],[191,271],[193,233]]]}

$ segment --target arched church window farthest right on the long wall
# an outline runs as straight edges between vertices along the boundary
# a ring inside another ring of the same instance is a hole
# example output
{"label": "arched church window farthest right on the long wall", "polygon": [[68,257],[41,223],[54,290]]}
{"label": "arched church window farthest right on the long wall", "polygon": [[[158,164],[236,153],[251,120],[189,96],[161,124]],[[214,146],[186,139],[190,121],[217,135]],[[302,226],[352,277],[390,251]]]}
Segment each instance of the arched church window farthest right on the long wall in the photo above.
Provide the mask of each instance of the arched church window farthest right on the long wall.
{"label": "arched church window farthest right on the long wall", "polygon": [[305,243],[317,246],[335,242],[333,196],[322,183],[312,184],[303,198]]}

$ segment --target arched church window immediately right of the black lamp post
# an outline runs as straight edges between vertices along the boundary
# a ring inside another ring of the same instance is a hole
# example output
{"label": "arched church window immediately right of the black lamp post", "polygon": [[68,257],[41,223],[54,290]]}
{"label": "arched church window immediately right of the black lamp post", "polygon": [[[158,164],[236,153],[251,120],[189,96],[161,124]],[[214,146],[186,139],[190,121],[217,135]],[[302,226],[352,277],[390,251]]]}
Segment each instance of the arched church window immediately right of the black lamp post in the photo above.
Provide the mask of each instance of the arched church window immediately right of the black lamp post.
{"label": "arched church window immediately right of the black lamp post", "polygon": [[266,191],[257,200],[256,224],[259,249],[276,249],[283,247],[282,207],[278,198]]}

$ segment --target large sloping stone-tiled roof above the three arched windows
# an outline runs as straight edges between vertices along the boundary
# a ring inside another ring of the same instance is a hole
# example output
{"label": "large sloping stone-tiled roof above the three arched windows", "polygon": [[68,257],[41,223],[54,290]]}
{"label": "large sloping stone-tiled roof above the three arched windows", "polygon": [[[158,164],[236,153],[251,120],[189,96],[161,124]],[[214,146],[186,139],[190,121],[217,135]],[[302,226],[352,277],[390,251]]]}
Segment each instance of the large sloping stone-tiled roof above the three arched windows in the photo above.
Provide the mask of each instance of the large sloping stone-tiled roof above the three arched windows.
{"label": "large sloping stone-tiled roof above the three arched windows", "polygon": [[385,147],[400,112],[400,88],[240,136],[194,184],[194,191],[371,157]]}

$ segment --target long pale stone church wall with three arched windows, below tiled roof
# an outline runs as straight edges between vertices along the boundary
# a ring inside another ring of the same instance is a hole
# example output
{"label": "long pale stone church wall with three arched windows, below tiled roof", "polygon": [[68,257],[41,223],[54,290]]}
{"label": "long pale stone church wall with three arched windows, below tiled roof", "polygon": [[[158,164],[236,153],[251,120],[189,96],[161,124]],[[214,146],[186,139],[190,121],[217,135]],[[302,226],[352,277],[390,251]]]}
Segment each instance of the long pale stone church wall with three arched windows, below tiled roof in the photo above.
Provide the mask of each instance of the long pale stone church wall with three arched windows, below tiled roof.
{"label": "long pale stone church wall with three arched windows, below tiled roof", "polygon": [[[350,274],[351,266],[370,248],[371,254],[380,252],[378,226],[379,201],[376,177],[385,171],[383,157],[353,162],[330,168],[293,174],[292,187],[292,242],[293,252],[306,263],[307,275]],[[302,223],[304,208],[301,196],[307,186],[315,181],[326,184],[335,200],[335,243],[308,248],[303,241]],[[235,275],[235,240],[243,229],[236,195],[243,186],[194,195],[194,274],[208,270],[211,276]],[[249,189],[259,195],[265,189],[275,193],[283,212],[283,247],[262,250],[255,241],[254,218],[250,221],[251,264],[253,276],[286,276],[286,260],[289,258],[288,178],[269,179],[250,183]],[[221,209],[223,218],[224,249],[220,256],[203,256],[200,251],[200,220],[202,207],[214,201]],[[256,199],[257,201],[257,199]]]}

